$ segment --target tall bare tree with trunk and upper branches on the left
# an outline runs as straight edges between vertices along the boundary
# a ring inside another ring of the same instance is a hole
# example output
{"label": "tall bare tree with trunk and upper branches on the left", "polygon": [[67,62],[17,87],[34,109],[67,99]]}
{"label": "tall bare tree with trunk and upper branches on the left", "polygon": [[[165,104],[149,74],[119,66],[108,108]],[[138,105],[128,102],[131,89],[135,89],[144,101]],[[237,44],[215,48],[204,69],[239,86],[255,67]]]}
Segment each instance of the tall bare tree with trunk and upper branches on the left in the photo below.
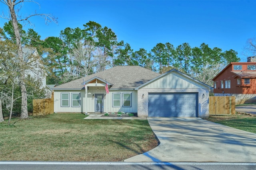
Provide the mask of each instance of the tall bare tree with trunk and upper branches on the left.
{"label": "tall bare tree with trunk and upper branches on the left", "polygon": [[[23,58],[23,53],[22,53],[22,43],[21,43],[21,34],[20,34],[20,29],[18,27],[18,22],[19,21],[27,21],[30,23],[29,19],[32,16],[41,16],[45,19],[45,22],[51,22],[54,21],[56,22],[56,18],[54,18],[51,14],[37,14],[33,13],[28,16],[19,16],[18,12],[22,8],[24,2],[34,2],[32,0],[0,0],[4,5],[8,6],[8,16],[3,14],[1,17],[7,20],[12,21],[12,26],[14,29],[14,34],[15,34],[15,39],[16,39],[16,45],[18,47],[18,59],[20,61],[19,67],[24,68],[26,67],[26,63],[24,62]],[[38,3],[37,3],[38,4]],[[24,70],[23,70],[24,71]],[[27,119],[28,118],[28,103],[27,103],[27,90],[26,90],[26,84],[24,82],[24,72],[20,70],[20,90],[21,90],[21,119]]]}

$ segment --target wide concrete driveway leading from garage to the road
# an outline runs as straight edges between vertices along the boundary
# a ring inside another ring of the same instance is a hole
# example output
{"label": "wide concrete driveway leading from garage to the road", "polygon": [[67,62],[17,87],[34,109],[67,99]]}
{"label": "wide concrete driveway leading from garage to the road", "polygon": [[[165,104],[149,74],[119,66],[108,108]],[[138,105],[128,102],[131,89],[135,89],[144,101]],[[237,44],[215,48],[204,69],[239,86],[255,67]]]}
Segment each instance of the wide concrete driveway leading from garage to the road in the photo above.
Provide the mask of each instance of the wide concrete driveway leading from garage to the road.
{"label": "wide concrete driveway leading from garage to the road", "polygon": [[148,118],[158,147],[125,162],[256,162],[256,134],[201,118]]}

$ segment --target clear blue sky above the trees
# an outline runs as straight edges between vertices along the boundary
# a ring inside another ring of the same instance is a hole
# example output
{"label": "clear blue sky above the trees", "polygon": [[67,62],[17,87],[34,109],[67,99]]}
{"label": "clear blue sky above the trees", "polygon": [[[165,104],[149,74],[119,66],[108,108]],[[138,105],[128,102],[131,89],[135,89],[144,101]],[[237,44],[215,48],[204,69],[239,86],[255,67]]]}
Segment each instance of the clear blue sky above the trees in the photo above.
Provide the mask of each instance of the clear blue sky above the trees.
{"label": "clear blue sky above the trees", "polygon": [[[58,25],[45,25],[44,19],[34,17],[34,29],[42,39],[58,37],[66,27],[83,28],[88,21],[95,21],[111,28],[118,37],[129,43],[134,51],[150,51],[157,43],[169,42],[174,47],[189,43],[223,51],[233,49],[241,61],[244,46],[256,36],[256,1],[148,1],[148,0],[36,0],[40,4],[25,3],[20,13],[51,13],[58,18]],[[0,11],[6,12],[0,4]],[[0,27],[7,20],[0,19]]]}

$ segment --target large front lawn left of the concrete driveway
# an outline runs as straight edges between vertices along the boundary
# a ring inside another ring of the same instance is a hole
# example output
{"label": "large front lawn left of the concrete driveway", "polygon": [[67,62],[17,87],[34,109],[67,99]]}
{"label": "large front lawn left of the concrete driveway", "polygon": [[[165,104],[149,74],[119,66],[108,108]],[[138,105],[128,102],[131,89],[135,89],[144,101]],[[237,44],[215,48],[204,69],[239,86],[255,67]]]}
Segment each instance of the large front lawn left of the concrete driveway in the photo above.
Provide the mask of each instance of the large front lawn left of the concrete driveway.
{"label": "large front lawn left of the concrete driveway", "polygon": [[60,113],[0,123],[0,160],[122,161],[157,146],[147,120],[84,117]]}

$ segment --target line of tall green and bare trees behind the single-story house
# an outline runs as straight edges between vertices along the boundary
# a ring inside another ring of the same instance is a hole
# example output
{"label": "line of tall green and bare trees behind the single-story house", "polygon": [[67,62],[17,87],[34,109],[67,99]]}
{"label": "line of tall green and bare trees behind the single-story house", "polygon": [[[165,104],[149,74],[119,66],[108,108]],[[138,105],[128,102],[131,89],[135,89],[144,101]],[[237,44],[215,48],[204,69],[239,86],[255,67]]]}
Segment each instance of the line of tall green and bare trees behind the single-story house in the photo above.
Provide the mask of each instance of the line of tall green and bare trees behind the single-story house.
{"label": "line of tall green and bare trees behind the single-story house", "polygon": [[[108,27],[89,21],[83,29],[70,28],[60,31],[59,37],[40,39],[33,29],[22,30],[22,45],[36,47],[48,69],[47,84],[62,84],[118,65],[138,65],[164,73],[175,68],[208,85],[212,78],[230,62],[238,62],[237,52],[222,51],[202,43],[191,47],[183,43],[158,43],[151,51],[140,48],[134,51],[128,43],[117,41],[116,34]],[[15,43],[11,24],[5,23],[2,37]]]}

